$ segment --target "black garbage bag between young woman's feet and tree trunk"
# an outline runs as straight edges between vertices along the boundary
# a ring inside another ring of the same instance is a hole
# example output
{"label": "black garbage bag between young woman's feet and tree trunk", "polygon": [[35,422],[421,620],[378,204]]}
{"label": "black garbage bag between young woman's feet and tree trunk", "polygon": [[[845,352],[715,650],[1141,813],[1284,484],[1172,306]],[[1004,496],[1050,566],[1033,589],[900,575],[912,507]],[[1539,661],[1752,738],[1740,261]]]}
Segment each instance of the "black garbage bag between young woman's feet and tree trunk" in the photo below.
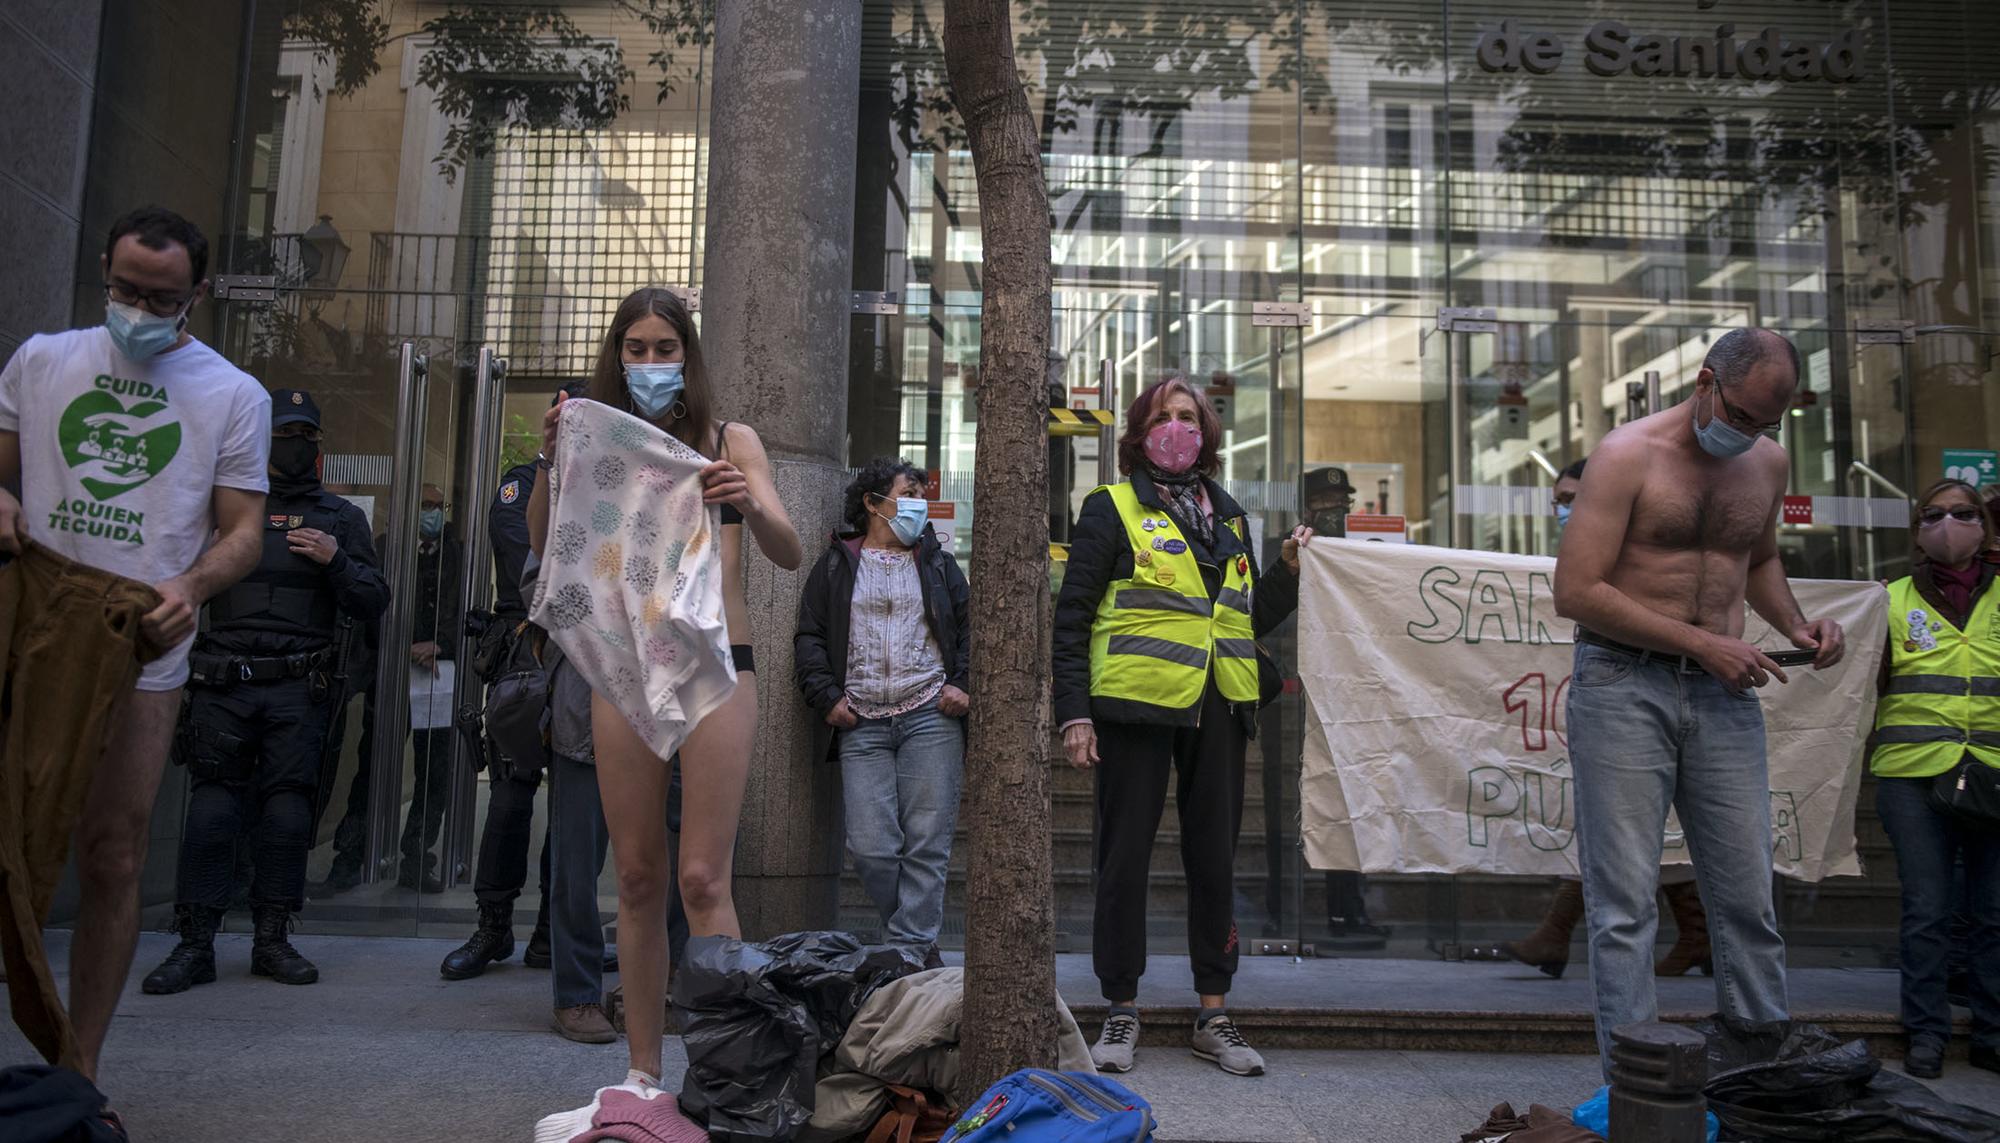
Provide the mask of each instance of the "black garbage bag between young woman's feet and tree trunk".
{"label": "black garbage bag between young woman's feet and tree trunk", "polygon": [[680,1105],[710,1139],[790,1139],[812,1119],[820,1057],[874,989],[924,969],[920,951],[850,933],[750,943],[694,937],[674,977],[688,1049]]}

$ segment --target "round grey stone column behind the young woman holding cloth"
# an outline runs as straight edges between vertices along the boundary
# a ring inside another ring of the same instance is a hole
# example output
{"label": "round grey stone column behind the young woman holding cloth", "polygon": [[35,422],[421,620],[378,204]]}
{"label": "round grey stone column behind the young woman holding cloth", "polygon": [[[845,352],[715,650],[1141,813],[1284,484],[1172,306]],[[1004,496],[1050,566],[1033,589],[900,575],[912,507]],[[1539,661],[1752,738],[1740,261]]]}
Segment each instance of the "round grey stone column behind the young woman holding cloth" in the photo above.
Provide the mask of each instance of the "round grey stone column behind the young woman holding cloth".
{"label": "round grey stone column behind the young woman holding cloth", "polygon": [[758,737],[736,839],[744,935],[832,927],[840,781],[792,685],[798,593],[846,488],[848,292],[860,0],[716,4],[702,352],[716,416],[756,428],[806,546],[784,572],[744,538]]}

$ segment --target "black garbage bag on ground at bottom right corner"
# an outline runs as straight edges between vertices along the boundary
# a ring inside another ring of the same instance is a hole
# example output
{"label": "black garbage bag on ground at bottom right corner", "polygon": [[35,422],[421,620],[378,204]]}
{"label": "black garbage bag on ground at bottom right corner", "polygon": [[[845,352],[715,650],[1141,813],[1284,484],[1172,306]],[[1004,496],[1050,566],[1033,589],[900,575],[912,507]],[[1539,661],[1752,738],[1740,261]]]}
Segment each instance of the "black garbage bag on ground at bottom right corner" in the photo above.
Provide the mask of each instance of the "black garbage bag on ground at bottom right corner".
{"label": "black garbage bag on ground at bottom right corner", "polygon": [[1784,1143],[1994,1143],[2000,1115],[1942,1099],[1922,1083],[1882,1071],[1860,1039],[1816,1023],[1740,1023],[1712,1017],[1708,1109],[1722,1139]]}

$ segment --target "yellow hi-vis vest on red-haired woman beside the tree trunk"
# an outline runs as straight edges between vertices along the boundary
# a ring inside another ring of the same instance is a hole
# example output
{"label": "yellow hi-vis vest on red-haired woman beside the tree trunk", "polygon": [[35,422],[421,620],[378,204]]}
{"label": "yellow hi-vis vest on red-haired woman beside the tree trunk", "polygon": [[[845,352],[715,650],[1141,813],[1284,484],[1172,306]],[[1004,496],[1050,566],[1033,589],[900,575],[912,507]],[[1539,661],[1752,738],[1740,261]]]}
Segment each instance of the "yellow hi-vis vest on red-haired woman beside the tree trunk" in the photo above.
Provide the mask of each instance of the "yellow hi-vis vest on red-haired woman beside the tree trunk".
{"label": "yellow hi-vis vest on red-haired woman beside the tree trunk", "polygon": [[[1186,709],[1202,701],[1212,669],[1222,697],[1254,701],[1248,560],[1222,566],[1222,585],[1210,599],[1194,548],[1166,510],[1142,506],[1130,484],[1102,492],[1132,546],[1132,577],[1114,579],[1098,601],[1090,627],[1092,697]],[[1238,522],[1230,530],[1242,540]]]}

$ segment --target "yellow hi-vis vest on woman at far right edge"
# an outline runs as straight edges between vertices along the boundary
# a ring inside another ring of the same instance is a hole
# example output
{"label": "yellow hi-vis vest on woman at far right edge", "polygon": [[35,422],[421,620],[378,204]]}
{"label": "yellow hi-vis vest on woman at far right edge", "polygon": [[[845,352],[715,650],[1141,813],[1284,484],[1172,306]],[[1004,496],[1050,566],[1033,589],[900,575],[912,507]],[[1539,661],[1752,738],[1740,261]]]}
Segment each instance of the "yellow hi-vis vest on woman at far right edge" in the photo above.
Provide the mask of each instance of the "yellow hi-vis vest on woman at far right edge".
{"label": "yellow hi-vis vest on woman at far right edge", "polygon": [[1876,703],[1870,769],[1930,777],[1972,753],[2000,767],[2000,589],[1958,629],[1904,575],[1888,585],[1890,679]]}

